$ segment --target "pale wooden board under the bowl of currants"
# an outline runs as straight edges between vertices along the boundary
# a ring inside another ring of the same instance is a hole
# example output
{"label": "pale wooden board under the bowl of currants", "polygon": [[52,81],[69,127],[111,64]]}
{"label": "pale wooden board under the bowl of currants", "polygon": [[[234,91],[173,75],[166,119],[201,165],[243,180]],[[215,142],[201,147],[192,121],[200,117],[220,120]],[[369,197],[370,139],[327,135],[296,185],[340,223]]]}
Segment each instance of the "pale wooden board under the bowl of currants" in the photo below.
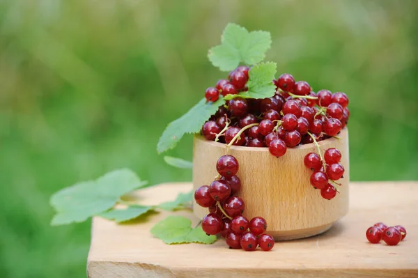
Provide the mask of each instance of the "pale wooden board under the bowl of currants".
{"label": "pale wooden board under the bowl of currants", "polygon": [[[169,201],[191,183],[166,184],[137,192],[143,204]],[[271,252],[213,245],[165,245],[146,221],[116,224],[95,217],[88,277],[418,277],[418,182],[351,183],[350,210],[332,228],[312,238],[276,242]],[[180,211],[199,222],[192,212]],[[366,229],[376,222],[402,224],[400,245],[372,245]]]}

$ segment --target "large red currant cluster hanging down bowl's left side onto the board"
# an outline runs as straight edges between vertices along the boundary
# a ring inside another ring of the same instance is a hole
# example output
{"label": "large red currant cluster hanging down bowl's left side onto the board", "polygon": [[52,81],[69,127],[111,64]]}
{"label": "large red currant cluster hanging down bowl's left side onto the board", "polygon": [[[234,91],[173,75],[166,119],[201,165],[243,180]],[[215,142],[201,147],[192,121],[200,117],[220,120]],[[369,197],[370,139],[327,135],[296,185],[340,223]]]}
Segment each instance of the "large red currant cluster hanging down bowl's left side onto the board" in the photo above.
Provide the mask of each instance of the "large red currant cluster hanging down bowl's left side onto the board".
{"label": "large red currant cluster hanging down bowl's left side onto the board", "polygon": [[263,217],[254,217],[250,221],[242,216],[244,200],[235,196],[241,188],[236,176],[239,164],[232,155],[223,155],[216,164],[219,175],[209,186],[202,185],[194,192],[194,200],[199,206],[209,209],[202,219],[202,229],[208,235],[221,235],[231,249],[253,251],[259,246],[269,251],[274,239],[265,233],[267,222]]}

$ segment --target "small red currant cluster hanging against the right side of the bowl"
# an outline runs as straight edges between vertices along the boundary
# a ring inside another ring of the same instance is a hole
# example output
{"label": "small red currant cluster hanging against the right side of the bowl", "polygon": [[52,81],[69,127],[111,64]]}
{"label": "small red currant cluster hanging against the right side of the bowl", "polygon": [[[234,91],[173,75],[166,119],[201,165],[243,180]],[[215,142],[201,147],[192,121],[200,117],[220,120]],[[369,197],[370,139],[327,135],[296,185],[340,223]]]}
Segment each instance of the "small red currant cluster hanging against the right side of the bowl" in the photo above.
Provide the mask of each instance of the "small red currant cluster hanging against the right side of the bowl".
{"label": "small red currant cluster hanging against the right side of the bowl", "polygon": [[330,200],[336,196],[336,180],[343,178],[344,167],[339,164],[341,161],[341,152],[336,148],[328,148],[325,150],[324,157],[318,153],[308,153],[304,157],[304,165],[314,171],[311,174],[311,185],[320,190],[320,196]]}

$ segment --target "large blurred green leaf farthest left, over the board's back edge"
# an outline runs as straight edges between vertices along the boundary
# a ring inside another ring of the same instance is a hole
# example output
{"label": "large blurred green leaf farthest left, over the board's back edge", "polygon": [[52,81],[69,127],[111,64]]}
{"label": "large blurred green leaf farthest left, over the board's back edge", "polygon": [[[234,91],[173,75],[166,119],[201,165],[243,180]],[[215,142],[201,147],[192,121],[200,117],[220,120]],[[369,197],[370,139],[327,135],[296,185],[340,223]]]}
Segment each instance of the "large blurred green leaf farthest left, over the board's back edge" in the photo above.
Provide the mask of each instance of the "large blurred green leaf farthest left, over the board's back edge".
{"label": "large blurred green leaf farthest left, over the board's back edge", "polygon": [[83,222],[113,208],[124,194],[146,185],[130,169],[118,169],[90,180],[66,187],[51,196],[51,206],[56,210],[52,225]]}

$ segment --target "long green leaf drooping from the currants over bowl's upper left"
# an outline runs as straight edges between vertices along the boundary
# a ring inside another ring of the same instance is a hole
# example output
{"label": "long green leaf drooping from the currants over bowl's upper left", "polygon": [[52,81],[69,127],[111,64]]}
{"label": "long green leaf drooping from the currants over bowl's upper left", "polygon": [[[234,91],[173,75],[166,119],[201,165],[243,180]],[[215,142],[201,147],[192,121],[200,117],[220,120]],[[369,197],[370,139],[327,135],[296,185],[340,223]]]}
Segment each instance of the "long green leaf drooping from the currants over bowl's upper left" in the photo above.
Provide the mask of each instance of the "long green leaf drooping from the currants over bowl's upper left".
{"label": "long green leaf drooping from the currants over bowl's upper left", "polygon": [[203,123],[208,121],[208,118],[215,114],[218,107],[224,104],[223,98],[219,98],[216,102],[206,102],[206,98],[203,98],[186,114],[169,123],[158,141],[157,152],[163,153],[174,148],[186,133],[199,132]]}

